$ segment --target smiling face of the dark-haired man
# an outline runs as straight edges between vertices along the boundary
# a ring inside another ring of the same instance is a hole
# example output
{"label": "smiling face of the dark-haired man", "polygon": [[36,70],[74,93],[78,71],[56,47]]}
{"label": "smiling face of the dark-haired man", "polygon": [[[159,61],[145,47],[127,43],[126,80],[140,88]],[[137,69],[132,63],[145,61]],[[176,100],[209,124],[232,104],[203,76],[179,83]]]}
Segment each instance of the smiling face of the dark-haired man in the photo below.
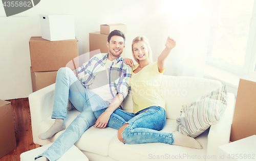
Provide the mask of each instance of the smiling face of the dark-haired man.
{"label": "smiling face of the dark-haired man", "polygon": [[110,43],[106,43],[109,48],[109,60],[113,61],[121,56],[124,48],[124,40],[121,36],[112,36]]}

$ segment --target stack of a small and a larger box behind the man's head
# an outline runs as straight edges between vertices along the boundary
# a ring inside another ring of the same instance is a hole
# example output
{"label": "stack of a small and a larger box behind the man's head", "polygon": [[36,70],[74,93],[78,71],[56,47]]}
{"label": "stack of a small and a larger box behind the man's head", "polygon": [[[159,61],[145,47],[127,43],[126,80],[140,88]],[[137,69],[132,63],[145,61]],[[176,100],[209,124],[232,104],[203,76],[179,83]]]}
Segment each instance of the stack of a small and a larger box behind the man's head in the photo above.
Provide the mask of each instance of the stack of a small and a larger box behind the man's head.
{"label": "stack of a small and a larger box behind the man's head", "polygon": [[[100,49],[101,53],[108,53],[109,48],[106,46],[109,34],[114,30],[120,30],[125,35],[127,32],[127,26],[122,23],[117,24],[101,24],[100,31],[89,33],[90,39],[90,51]],[[91,53],[91,52],[90,52]],[[123,50],[122,57],[124,58],[125,50]],[[90,54],[90,58],[94,55]]]}

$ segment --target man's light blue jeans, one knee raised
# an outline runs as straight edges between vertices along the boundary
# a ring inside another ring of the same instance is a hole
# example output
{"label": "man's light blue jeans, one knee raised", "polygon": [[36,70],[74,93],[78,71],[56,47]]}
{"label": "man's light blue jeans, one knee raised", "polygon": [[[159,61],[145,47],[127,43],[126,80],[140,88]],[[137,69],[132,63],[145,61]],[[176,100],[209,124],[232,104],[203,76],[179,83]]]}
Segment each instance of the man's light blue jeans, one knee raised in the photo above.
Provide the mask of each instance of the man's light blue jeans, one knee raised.
{"label": "man's light blue jeans, one knee raised", "polygon": [[62,156],[81,137],[84,131],[95,124],[97,119],[93,110],[98,105],[109,105],[108,101],[102,100],[97,94],[84,88],[70,68],[60,68],[55,83],[53,119],[66,118],[68,99],[81,114],[76,117],[51,147],[39,155],[46,156],[50,161]]}

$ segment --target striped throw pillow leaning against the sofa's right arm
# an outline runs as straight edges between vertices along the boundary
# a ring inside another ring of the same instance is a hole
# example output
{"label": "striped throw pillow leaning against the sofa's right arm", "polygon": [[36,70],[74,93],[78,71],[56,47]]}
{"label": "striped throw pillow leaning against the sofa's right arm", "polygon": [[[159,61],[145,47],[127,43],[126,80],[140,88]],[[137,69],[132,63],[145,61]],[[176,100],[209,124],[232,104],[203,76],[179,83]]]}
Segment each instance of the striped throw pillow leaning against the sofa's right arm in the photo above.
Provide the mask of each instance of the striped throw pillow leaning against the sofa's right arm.
{"label": "striped throw pillow leaning against the sofa's right arm", "polygon": [[226,86],[201,96],[182,106],[176,130],[186,136],[197,137],[210,125],[217,123],[227,108]]}

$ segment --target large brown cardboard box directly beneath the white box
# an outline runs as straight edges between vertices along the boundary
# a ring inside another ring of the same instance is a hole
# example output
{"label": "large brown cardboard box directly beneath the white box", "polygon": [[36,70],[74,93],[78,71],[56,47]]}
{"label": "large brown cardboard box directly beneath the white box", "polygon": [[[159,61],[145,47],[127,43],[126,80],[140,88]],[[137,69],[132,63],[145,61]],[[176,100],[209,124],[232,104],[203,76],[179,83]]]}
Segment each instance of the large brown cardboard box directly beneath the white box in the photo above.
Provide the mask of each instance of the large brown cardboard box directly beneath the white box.
{"label": "large brown cardboard box directly beneath the white box", "polygon": [[32,71],[57,71],[78,57],[78,40],[48,41],[41,37],[29,40]]}

